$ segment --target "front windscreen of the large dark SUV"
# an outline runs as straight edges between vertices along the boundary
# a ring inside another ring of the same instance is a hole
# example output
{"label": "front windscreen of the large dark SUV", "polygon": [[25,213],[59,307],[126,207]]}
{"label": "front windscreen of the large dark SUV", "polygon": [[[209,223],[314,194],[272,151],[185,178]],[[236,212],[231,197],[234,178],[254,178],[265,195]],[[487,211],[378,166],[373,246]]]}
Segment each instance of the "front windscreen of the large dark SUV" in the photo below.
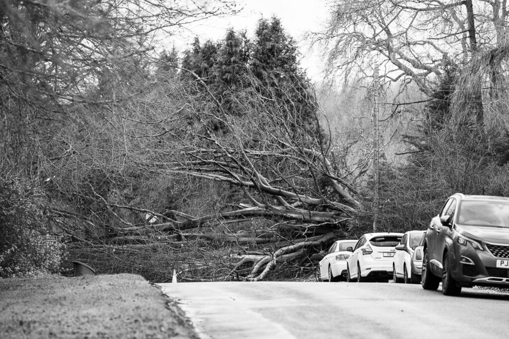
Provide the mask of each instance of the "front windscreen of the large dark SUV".
{"label": "front windscreen of the large dark SUV", "polygon": [[458,213],[462,225],[509,228],[509,201],[463,200]]}

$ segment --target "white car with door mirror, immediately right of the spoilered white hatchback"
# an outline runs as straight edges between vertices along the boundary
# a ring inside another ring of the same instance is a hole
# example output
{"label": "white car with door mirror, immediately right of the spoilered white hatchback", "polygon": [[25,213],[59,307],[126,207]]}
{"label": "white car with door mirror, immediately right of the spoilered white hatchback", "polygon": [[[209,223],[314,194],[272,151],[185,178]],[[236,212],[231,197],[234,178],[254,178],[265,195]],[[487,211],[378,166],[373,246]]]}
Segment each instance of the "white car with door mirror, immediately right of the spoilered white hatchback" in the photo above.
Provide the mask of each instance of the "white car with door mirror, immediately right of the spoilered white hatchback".
{"label": "white car with door mirror, immediately right of the spoilered white hatchback", "polygon": [[417,275],[412,273],[411,261],[424,233],[425,231],[405,232],[400,243],[395,247],[396,254],[392,261],[392,282],[405,284],[420,283],[420,276],[417,277]]}

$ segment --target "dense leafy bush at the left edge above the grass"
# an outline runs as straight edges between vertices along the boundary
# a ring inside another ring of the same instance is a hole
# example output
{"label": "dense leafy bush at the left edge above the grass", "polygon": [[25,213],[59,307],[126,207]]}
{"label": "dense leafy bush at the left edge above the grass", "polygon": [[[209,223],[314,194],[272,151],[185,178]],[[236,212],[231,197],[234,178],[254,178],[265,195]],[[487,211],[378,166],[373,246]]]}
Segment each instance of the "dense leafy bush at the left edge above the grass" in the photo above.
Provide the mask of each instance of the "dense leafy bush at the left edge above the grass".
{"label": "dense leafy bush at the left edge above the grass", "polygon": [[0,276],[60,270],[64,244],[44,244],[48,230],[37,192],[18,178],[0,178]]}

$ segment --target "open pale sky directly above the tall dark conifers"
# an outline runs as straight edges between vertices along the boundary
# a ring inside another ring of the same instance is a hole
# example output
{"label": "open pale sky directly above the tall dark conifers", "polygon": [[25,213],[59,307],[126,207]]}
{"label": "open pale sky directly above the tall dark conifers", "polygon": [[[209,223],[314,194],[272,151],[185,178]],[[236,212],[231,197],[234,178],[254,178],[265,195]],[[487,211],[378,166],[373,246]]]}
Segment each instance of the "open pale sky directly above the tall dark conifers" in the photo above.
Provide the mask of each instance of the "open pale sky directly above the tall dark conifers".
{"label": "open pale sky directly above the tall dark conifers", "polygon": [[[309,31],[321,30],[328,18],[326,0],[244,0],[238,1],[243,10],[235,16],[213,17],[191,27],[189,37],[175,41],[175,47],[185,50],[192,42],[193,34],[200,41],[219,40],[224,37],[227,28],[246,29],[252,36],[260,18],[277,16],[286,32],[297,42],[301,53],[300,65],[307,71],[313,82],[323,78],[321,75],[321,56],[318,51],[309,50],[303,35]],[[185,42],[184,42],[185,41]]]}

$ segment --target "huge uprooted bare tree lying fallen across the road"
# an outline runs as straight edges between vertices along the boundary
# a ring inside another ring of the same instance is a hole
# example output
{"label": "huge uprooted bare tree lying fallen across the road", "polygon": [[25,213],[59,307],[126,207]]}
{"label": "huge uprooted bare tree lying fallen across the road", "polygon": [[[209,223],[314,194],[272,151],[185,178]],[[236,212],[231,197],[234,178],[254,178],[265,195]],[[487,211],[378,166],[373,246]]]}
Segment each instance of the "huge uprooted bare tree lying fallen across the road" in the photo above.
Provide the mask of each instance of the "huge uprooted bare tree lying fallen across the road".
{"label": "huge uprooted bare tree lying fallen across the road", "polygon": [[[52,224],[69,236],[77,257],[108,270],[143,274],[147,260],[158,260],[144,274],[154,280],[168,280],[171,274],[161,272],[173,268],[191,281],[263,280],[281,264],[312,268],[317,252],[349,234],[360,206],[348,182],[358,173],[334,168],[328,159],[332,145],[318,124],[320,111],[314,110],[315,125],[296,130],[300,112],[277,97],[247,89],[243,96],[250,100],[232,116],[202,79],[196,76],[192,85],[205,95],[190,96],[182,86],[168,98],[161,85],[147,100],[145,116],[139,106],[110,112],[109,124],[95,127],[111,136],[110,148],[93,138],[74,143],[72,167],[83,172],[60,167],[48,182],[61,197],[47,208]],[[161,139],[158,132],[167,130]],[[125,154],[118,157],[120,149]],[[55,171],[54,161],[46,165]],[[207,182],[212,186],[204,189]],[[144,185],[147,191],[139,188]],[[141,199],[165,190],[160,200]],[[185,196],[187,203],[168,204],[168,194]],[[223,196],[213,198],[217,194]],[[117,268],[106,264],[113,261]]]}

